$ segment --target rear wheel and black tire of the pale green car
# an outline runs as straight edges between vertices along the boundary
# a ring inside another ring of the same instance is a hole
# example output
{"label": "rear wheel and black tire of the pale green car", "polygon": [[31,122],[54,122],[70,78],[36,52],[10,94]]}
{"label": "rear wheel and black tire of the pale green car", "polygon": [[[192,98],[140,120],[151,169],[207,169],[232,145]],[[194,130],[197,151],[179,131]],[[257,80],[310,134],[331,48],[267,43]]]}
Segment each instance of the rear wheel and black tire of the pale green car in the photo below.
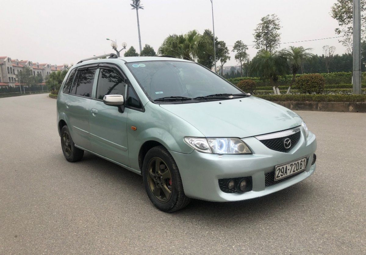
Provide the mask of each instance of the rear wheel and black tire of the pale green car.
{"label": "rear wheel and black tire of the pale green car", "polygon": [[69,162],[76,162],[82,159],[84,151],[76,148],[74,141],[72,141],[70,131],[65,125],[61,129],[61,148],[65,159]]}

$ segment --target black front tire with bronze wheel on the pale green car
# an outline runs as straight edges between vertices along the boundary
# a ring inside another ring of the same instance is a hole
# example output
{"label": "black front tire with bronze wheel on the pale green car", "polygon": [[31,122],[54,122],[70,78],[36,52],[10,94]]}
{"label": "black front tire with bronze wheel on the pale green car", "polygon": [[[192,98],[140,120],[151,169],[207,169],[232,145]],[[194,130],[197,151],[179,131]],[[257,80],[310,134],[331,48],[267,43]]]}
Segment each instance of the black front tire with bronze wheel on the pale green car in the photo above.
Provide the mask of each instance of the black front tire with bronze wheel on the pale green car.
{"label": "black front tire with bronze wheel on the pale green car", "polygon": [[178,166],[164,146],[156,146],[146,153],[142,178],[151,202],[163,212],[175,212],[190,202],[184,194]]}

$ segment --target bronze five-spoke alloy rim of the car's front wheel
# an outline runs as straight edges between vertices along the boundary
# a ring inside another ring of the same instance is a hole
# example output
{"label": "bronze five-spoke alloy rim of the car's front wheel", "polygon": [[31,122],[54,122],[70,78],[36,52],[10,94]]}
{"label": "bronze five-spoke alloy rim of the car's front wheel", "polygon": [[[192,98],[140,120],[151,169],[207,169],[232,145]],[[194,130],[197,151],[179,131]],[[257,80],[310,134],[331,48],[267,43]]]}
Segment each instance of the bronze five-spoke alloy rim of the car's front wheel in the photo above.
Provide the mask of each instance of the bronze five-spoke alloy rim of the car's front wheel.
{"label": "bronze five-spoke alloy rim of the car's front wheel", "polygon": [[147,166],[147,181],[154,197],[160,202],[168,202],[173,190],[172,174],[165,162],[153,157]]}

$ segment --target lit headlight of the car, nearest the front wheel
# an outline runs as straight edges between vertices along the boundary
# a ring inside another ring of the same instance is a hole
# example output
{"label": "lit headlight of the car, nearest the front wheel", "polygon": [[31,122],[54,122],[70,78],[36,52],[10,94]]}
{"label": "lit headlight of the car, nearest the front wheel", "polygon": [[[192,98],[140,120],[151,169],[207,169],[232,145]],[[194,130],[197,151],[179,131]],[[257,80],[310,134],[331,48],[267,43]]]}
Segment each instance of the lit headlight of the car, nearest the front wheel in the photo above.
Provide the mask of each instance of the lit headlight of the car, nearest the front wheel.
{"label": "lit headlight of the car, nearest the front wheel", "polygon": [[213,154],[251,154],[248,146],[239,138],[184,137],[193,149]]}

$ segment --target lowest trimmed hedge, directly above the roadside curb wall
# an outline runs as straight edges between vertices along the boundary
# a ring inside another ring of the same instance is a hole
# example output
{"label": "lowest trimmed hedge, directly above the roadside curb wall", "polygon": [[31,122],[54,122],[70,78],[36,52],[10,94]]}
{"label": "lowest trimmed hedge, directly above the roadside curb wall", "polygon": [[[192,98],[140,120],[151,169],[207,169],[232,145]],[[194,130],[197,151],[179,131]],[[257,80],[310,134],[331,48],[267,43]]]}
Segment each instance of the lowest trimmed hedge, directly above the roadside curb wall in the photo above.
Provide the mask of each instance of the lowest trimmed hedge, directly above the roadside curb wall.
{"label": "lowest trimmed hedge, directly above the roadside curb wall", "polygon": [[366,102],[366,95],[258,95],[269,101],[296,102]]}

